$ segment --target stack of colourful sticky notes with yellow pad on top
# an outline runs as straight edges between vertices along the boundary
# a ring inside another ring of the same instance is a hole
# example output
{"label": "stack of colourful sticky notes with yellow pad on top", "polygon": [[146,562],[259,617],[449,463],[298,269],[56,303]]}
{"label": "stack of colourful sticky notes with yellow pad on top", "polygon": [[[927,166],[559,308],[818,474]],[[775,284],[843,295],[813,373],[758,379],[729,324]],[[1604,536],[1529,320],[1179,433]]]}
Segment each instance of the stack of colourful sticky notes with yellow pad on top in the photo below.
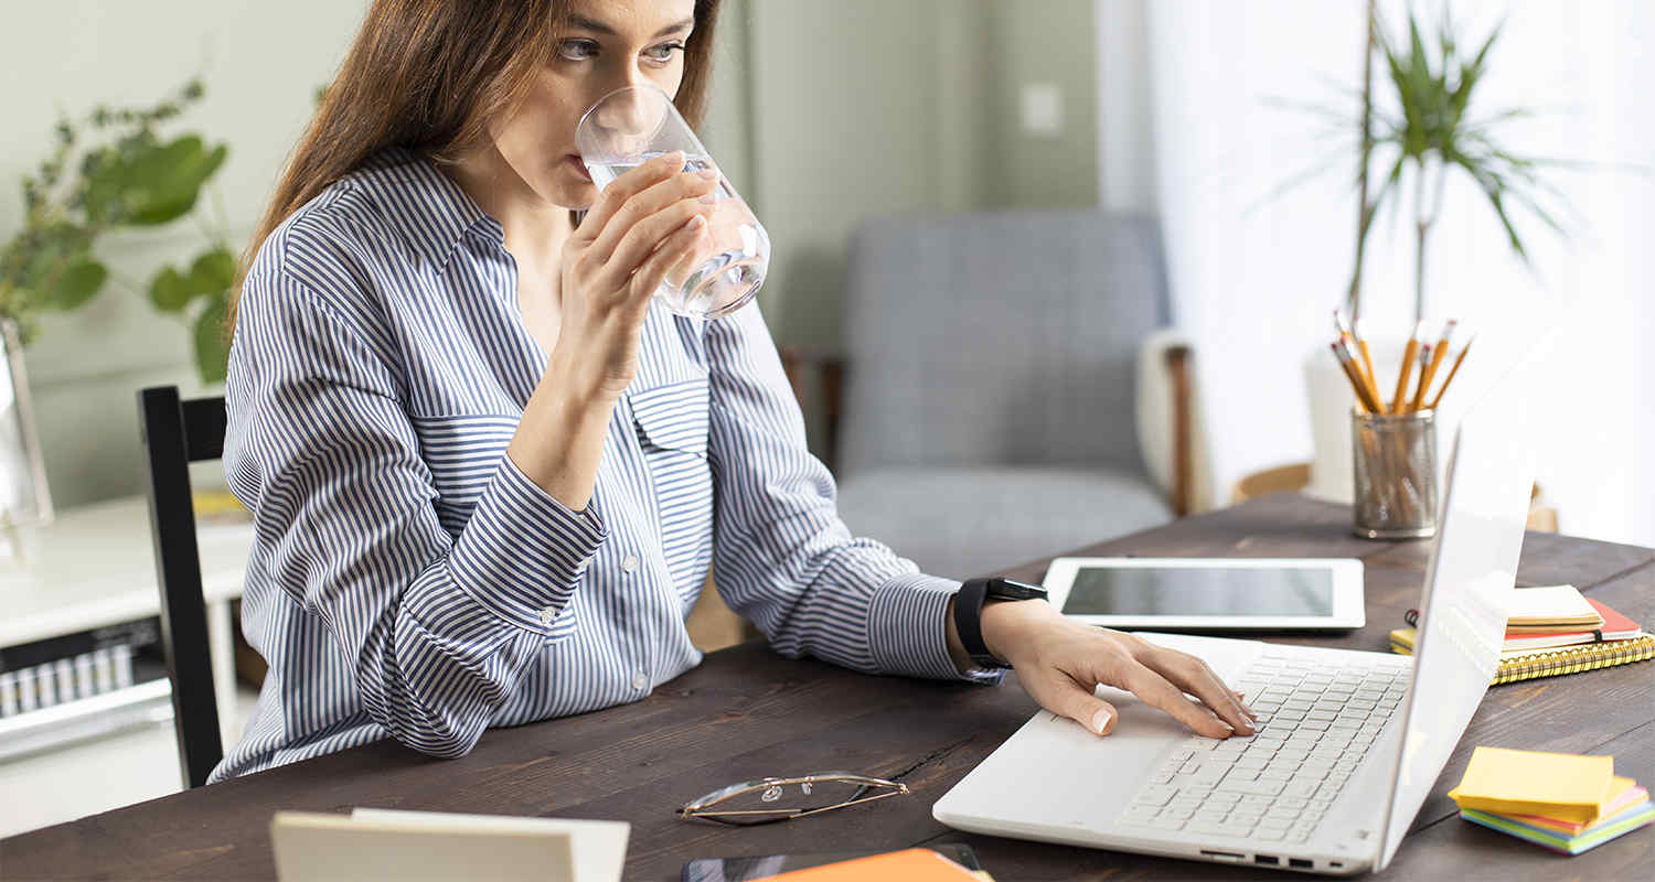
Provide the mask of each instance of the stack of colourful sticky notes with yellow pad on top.
{"label": "stack of colourful sticky notes with yellow pad on top", "polygon": [[1648,791],[1617,778],[1614,756],[1476,748],[1448,796],[1460,817],[1564,854],[1655,821]]}

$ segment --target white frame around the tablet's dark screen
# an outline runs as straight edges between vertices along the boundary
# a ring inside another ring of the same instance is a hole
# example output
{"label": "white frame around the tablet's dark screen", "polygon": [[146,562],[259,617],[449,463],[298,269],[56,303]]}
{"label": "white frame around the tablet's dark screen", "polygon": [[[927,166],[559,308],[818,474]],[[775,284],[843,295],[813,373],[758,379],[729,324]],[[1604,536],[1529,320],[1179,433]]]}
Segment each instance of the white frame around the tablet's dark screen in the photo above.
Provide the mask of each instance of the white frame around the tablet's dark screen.
{"label": "white frame around the tablet's dark screen", "polygon": [[1081,568],[1158,569],[1326,569],[1332,573],[1332,612],[1327,616],[1096,616],[1069,614],[1067,619],[1104,627],[1200,629],[1200,630],[1350,630],[1367,624],[1362,589],[1362,561],[1355,558],[1056,558],[1043,581],[1053,609],[1063,612]]}

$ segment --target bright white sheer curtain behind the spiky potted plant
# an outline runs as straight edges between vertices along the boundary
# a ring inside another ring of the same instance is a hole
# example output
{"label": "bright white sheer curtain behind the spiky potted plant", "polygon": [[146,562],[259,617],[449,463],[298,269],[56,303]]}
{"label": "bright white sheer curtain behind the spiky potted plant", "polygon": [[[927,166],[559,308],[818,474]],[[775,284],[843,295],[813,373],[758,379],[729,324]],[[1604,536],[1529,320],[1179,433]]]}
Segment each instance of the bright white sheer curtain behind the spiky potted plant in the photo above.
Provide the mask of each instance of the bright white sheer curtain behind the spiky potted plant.
{"label": "bright white sheer curtain behind the spiky potted plant", "polygon": [[[1101,194],[1158,215],[1178,323],[1198,346],[1215,498],[1240,477],[1311,458],[1304,362],[1327,357],[1355,237],[1354,137],[1284,104],[1350,108],[1360,0],[1097,0]],[[1415,2],[1435,20],[1440,3]],[[1400,0],[1382,0],[1395,33]],[[1480,331],[1443,400],[1440,448],[1478,391],[1557,334],[1541,409],[1539,483],[1567,533],[1655,544],[1655,5],[1456,2],[1461,33],[1504,22],[1473,111],[1521,106],[1516,152],[1597,164],[1559,172],[1572,228],[1521,218],[1509,252],[1486,200],[1451,180],[1430,240],[1427,314]],[[1389,91],[1375,70],[1375,93]],[[1640,165],[1642,170],[1627,169]],[[1304,184],[1278,189],[1307,169]],[[1412,187],[1407,190],[1412,195]],[[1369,334],[1402,338],[1413,308],[1412,199],[1369,240]],[[1519,215],[1521,217],[1521,215]],[[1321,349],[1316,356],[1314,351]],[[1390,372],[1394,367],[1384,372]]]}

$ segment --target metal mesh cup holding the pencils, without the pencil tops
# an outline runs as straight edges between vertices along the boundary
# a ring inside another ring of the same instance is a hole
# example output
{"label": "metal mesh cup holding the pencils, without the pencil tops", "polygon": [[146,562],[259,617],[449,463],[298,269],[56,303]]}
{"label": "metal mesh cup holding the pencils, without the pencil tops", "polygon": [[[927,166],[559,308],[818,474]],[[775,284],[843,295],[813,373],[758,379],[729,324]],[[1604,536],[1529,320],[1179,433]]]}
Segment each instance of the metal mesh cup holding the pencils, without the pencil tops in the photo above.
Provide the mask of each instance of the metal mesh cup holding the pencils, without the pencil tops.
{"label": "metal mesh cup holding the pencils, without the pencil tops", "polygon": [[1350,414],[1354,531],[1367,539],[1437,534],[1437,417]]}

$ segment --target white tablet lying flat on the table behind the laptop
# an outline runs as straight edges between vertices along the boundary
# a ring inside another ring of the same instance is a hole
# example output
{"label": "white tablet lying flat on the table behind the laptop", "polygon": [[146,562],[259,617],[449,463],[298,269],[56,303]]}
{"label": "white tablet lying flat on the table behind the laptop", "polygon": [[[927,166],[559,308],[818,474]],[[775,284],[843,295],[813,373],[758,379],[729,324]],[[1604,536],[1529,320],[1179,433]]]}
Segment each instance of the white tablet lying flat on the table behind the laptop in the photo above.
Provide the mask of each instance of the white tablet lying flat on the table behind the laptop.
{"label": "white tablet lying flat on the table behind the laptop", "polygon": [[1367,621],[1354,558],[1058,558],[1051,606],[1107,627],[1352,629]]}

